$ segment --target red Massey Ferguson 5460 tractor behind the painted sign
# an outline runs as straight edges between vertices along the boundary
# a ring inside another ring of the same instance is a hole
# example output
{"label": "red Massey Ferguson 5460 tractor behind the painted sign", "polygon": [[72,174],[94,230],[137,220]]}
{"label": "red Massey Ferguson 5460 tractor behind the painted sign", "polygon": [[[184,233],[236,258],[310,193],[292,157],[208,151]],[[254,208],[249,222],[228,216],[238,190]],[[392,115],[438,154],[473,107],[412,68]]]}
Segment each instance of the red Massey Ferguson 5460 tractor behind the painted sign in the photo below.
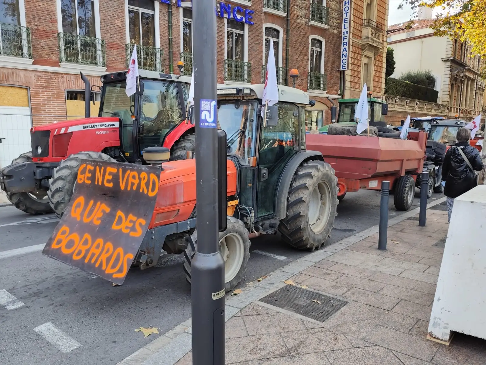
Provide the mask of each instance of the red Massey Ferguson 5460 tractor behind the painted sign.
{"label": "red Massey Ferguson 5460 tractor behind the painted sign", "polygon": [[126,71],[101,77],[98,117],[90,117],[91,87],[85,82],[86,118],[31,129],[32,151],[0,170],[0,186],[18,209],[61,216],[80,161],[143,163],[149,146],[171,150],[171,161],[192,158],[194,126],[188,117],[191,77],[139,70],[137,92],[125,93]]}

